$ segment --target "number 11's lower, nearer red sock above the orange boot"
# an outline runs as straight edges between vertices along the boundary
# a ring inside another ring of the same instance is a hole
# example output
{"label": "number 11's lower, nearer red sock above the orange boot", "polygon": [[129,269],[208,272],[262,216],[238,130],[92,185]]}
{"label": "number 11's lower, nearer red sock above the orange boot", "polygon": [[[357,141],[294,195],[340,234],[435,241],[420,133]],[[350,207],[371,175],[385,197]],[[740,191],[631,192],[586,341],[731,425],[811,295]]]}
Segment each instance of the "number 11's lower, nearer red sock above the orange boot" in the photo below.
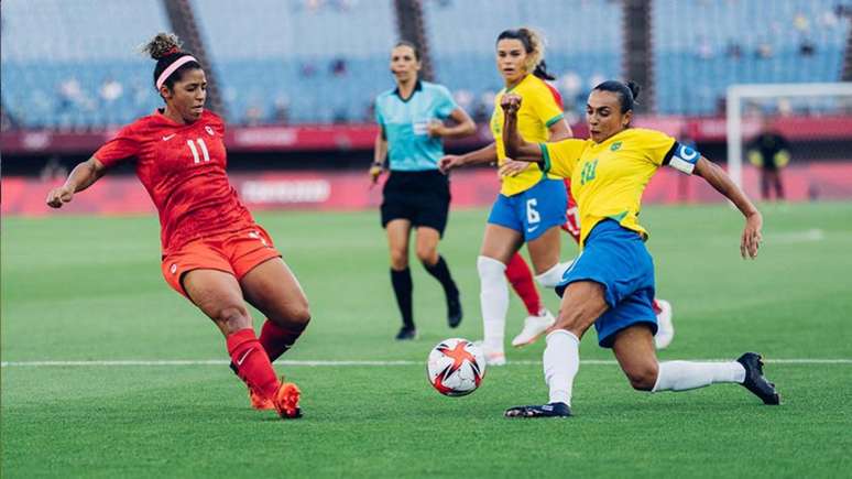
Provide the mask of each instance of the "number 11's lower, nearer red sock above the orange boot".
{"label": "number 11's lower, nearer red sock above the orange boot", "polygon": [[266,351],[254,336],[254,329],[240,329],[228,336],[226,344],[231,362],[237,367],[237,375],[255,392],[274,398],[280,385],[278,378]]}

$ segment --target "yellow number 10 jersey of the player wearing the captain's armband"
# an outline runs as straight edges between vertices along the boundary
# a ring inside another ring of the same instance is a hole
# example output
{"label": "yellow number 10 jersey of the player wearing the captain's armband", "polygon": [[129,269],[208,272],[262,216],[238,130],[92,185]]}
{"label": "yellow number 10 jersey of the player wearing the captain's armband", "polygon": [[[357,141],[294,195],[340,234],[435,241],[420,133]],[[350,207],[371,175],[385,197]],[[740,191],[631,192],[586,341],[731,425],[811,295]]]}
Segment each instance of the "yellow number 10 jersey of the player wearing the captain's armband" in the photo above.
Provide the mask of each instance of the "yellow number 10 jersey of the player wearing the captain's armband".
{"label": "yellow number 10 jersey of the player wearing the captain's armband", "polygon": [[[602,143],[570,139],[540,144],[544,171],[571,178],[580,214],[580,248],[592,228],[608,218],[647,238],[638,224],[642,193],[657,168],[671,160],[677,145],[665,133],[640,128],[621,131]],[[695,164],[698,153],[686,151],[684,156]],[[688,166],[688,171],[678,170],[690,173]]]}

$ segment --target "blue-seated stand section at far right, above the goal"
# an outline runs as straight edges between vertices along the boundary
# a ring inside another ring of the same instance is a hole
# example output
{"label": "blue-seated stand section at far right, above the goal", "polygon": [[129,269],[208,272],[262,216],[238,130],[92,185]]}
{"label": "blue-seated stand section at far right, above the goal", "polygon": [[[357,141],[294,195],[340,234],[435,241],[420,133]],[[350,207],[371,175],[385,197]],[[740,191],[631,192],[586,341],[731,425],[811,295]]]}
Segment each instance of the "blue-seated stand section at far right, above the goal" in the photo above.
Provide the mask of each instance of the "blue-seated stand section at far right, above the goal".
{"label": "blue-seated stand section at far right, above the goal", "polygon": [[718,115],[731,84],[840,80],[850,22],[837,4],[656,0],[657,112]]}

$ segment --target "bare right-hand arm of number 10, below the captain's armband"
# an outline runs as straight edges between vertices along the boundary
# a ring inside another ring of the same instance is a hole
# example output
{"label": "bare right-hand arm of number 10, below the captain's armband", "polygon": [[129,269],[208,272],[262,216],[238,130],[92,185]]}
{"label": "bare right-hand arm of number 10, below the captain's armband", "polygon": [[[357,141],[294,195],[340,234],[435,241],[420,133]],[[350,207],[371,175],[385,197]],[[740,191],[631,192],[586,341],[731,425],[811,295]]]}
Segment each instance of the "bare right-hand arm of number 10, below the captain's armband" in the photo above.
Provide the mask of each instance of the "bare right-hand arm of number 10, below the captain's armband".
{"label": "bare right-hand arm of number 10, below the captain's armband", "polygon": [[730,199],[736,208],[745,217],[745,228],[743,229],[743,236],[740,239],[740,254],[743,259],[757,258],[757,249],[761,247],[763,236],[761,229],[763,228],[763,216],[761,211],[754,206],[751,199],[745,196],[745,193],[731,181],[728,173],[721,167],[716,165],[710,160],[701,156],[696,163],[695,174],[701,176],[709,183],[717,192]]}

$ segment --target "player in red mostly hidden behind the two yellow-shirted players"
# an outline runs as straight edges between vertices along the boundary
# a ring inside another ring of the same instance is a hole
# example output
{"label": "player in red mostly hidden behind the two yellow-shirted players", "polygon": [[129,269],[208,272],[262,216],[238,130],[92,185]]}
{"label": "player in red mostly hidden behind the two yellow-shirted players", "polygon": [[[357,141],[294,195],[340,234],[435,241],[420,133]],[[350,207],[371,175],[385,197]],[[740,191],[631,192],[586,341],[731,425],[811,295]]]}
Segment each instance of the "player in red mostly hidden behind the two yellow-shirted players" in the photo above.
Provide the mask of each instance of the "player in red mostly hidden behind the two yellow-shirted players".
{"label": "player in red mostly hidden behind the two yellow-shirted players", "polygon": [[[553,94],[554,100],[559,106],[559,108],[564,108],[562,96],[559,94],[559,90],[557,90],[547,81],[545,81],[545,85],[547,85],[550,94]],[[525,164],[517,164],[513,166],[513,164],[510,162],[507,165],[504,165],[503,172],[505,174],[512,174],[513,172],[521,171],[525,167]],[[562,230],[570,235],[571,238],[574,238],[574,241],[579,244],[580,217],[577,211],[577,202],[574,199],[574,195],[571,194],[570,178],[565,178],[565,189],[568,192],[568,210],[566,211],[566,221],[565,225],[562,225]],[[529,270],[529,265],[526,264],[526,261],[524,260],[524,257],[521,255],[521,253],[515,253],[509,264],[506,264],[505,275],[509,280],[509,283],[512,285],[512,289],[515,290],[515,293],[517,293],[517,295],[521,296],[521,300],[524,302],[524,306],[529,314],[528,318],[549,315],[547,309],[544,307],[544,303],[542,303],[542,298],[538,295],[538,290],[535,287],[535,283],[533,282],[533,273]],[[659,300],[655,297],[653,306],[654,313],[657,315],[658,325],[657,334],[654,335],[654,345],[657,349],[665,349],[669,344],[671,344],[671,339],[675,337],[675,326],[671,323],[671,303],[667,302],[666,300]],[[525,320],[525,324],[526,323],[528,323],[528,319]],[[524,331],[522,331],[522,334],[512,341],[512,346],[526,346],[534,342],[536,339],[538,339],[538,337],[539,335],[524,335]]]}

